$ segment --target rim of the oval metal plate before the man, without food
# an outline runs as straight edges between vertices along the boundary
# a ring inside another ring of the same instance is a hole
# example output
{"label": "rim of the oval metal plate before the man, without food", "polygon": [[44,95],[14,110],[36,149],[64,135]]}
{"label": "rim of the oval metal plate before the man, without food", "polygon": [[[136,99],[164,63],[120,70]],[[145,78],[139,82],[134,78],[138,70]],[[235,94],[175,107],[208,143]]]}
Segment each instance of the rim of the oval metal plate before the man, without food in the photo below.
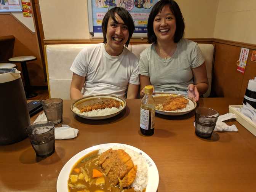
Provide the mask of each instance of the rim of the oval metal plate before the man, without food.
{"label": "rim of the oval metal plate before the man, without food", "polygon": [[[110,114],[110,115],[104,115],[104,116],[86,116],[86,115],[82,115],[82,114],[78,114],[76,112],[74,112],[73,108],[74,106],[76,106],[77,104],[80,104],[82,102],[85,102],[86,100],[90,100],[92,98],[111,98],[111,99],[115,99],[117,101],[121,101],[123,103],[123,108],[121,110],[119,110],[118,112],[115,112],[114,114]],[[115,115],[118,115],[120,114],[120,112],[122,112],[122,110],[124,110],[126,107],[126,101],[125,99],[123,98],[120,98],[118,96],[115,96],[115,95],[107,95],[107,94],[100,94],[100,95],[91,95],[91,96],[86,96],[86,97],[83,97],[81,99],[78,99],[76,100],[75,102],[73,102],[71,105],[70,105],[70,110],[78,115],[79,117],[83,117],[83,118],[86,118],[86,119],[93,119],[93,120],[99,120],[99,119],[106,119],[106,118],[110,118],[110,117],[114,117]]]}

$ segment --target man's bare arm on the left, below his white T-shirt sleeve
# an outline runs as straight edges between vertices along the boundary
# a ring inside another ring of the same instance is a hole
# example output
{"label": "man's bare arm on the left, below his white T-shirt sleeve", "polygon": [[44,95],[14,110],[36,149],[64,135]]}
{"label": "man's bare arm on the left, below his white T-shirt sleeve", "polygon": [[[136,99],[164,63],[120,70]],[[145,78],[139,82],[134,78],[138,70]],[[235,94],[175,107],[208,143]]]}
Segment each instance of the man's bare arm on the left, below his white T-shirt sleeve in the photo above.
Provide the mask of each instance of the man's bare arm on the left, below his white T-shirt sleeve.
{"label": "man's bare arm on the left, below his white T-shirt sleeve", "polygon": [[80,99],[83,97],[81,91],[83,84],[85,83],[85,77],[73,73],[72,81],[70,85],[70,99]]}

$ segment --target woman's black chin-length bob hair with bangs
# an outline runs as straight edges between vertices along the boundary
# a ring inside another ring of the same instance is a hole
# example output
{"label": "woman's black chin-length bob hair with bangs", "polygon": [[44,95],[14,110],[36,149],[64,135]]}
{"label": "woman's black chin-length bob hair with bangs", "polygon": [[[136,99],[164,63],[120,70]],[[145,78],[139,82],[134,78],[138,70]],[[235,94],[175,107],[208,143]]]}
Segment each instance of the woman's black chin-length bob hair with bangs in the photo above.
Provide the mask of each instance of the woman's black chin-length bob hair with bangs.
{"label": "woman's black chin-length bob hair with bangs", "polygon": [[184,23],[181,10],[179,9],[179,5],[173,0],[160,0],[153,6],[149,14],[149,19],[147,21],[147,38],[149,43],[157,43],[157,36],[155,36],[155,33],[154,33],[153,22],[154,22],[155,16],[158,13],[160,13],[163,7],[166,5],[169,6],[170,10],[173,12],[176,19],[176,31],[174,34],[174,43],[178,43],[179,40],[181,40],[181,38],[184,35],[185,23]]}

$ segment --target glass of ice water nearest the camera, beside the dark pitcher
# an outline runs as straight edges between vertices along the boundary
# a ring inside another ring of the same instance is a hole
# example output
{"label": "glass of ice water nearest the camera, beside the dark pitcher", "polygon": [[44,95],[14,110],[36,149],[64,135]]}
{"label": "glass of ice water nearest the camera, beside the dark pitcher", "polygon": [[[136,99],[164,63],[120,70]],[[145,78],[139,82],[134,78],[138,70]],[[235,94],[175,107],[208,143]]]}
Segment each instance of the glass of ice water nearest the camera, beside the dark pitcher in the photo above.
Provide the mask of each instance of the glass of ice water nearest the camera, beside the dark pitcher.
{"label": "glass of ice water nearest the camera, beside the dark pitcher", "polygon": [[30,143],[38,157],[48,157],[55,151],[54,123],[36,122],[26,129]]}

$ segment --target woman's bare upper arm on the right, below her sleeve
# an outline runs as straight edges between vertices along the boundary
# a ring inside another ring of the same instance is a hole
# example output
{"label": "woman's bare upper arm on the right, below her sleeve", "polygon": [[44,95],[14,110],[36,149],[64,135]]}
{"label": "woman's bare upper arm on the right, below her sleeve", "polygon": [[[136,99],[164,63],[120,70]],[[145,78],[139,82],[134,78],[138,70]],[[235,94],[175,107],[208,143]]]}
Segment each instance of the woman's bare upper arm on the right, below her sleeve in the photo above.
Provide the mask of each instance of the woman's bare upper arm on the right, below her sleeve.
{"label": "woman's bare upper arm on the right, below her sleeve", "polygon": [[205,62],[199,67],[192,68],[194,85],[196,85],[200,95],[206,93],[208,90],[208,78],[206,73]]}

